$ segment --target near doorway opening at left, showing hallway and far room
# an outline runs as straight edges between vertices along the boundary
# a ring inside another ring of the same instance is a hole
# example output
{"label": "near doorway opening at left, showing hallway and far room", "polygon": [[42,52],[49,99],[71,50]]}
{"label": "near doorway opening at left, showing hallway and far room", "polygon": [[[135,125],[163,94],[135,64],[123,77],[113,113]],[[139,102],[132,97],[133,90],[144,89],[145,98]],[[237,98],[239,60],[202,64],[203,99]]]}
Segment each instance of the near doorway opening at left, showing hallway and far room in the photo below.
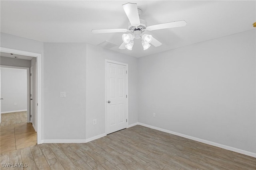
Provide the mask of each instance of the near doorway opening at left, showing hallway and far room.
{"label": "near doorway opening at left, showing hallway and far room", "polygon": [[[34,57],[0,53],[1,64],[1,153],[37,144],[33,121]],[[14,56],[14,57],[13,57]],[[18,56],[18,57],[17,57]],[[18,59],[19,58],[19,59]],[[31,60],[29,60],[31,59]],[[20,66],[10,66],[18,65]],[[35,78],[35,77],[34,77]]]}

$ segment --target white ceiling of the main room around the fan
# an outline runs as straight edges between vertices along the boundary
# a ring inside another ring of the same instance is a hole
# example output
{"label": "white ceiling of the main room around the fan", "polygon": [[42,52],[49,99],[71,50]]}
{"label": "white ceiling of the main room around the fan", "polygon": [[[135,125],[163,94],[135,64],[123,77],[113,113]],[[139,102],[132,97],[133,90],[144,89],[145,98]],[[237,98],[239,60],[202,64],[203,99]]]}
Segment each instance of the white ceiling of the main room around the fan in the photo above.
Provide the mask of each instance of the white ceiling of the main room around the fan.
{"label": "white ceiling of the main room around the fan", "polygon": [[[185,27],[147,31],[162,43],[143,51],[138,39],[132,51],[118,49],[122,33],[93,34],[92,29],[127,28],[122,8],[127,2],[142,9],[148,25],[185,20]],[[42,42],[118,44],[113,51],[142,57],[255,29],[256,1],[1,1],[1,32]]]}

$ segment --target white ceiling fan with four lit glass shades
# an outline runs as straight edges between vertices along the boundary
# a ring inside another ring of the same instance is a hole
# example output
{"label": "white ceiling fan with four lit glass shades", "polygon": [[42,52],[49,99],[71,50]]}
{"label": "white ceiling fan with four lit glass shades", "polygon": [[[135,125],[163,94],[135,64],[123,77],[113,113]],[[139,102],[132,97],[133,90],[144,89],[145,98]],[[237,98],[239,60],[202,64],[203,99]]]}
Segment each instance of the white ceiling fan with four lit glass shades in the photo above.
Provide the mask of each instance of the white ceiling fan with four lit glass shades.
{"label": "white ceiling fan with four lit glass shades", "polygon": [[124,12],[126,13],[129,23],[128,29],[92,29],[92,33],[125,33],[130,32],[128,34],[122,35],[123,43],[120,45],[119,49],[128,49],[132,50],[134,45],[134,38],[141,39],[143,49],[146,50],[150,47],[150,44],[158,47],[162,45],[158,40],[156,40],[152,35],[144,33],[144,31],[152,31],[157,29],[166,29],[173,27],[182,27],[186,25],[186,21],[173,21],[168,23],[161,23],[157,25],[148,26],[147,22],[140,19],[139,15],[142,10],[138,9],[137,4],[127,3],[122,5],[124,8]]}

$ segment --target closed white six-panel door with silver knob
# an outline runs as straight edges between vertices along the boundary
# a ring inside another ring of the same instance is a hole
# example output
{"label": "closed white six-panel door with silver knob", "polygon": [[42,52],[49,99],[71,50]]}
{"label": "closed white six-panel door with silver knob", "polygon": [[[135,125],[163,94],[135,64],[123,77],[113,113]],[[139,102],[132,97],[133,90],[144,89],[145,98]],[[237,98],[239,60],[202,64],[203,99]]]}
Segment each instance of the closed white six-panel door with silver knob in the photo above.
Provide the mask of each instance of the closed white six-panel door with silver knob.
{"label": "closed white six-panel door with silver knob", "polygon": [[125,65],[107,63],[107,134],[127,127],[127,70]]}

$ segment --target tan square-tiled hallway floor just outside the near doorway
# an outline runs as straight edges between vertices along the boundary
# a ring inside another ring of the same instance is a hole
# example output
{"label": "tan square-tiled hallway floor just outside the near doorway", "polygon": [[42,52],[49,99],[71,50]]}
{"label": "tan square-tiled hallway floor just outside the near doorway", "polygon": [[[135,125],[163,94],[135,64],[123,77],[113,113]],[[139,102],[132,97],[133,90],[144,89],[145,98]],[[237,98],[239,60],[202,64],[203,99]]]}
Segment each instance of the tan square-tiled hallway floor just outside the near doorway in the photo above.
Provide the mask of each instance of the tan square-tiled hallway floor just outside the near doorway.
{"label": "tan square-tiled hallway floor just outside the near doorway", "polygon": [[0,153],[36,145],[36,137],[32,123],[0,126]]}

